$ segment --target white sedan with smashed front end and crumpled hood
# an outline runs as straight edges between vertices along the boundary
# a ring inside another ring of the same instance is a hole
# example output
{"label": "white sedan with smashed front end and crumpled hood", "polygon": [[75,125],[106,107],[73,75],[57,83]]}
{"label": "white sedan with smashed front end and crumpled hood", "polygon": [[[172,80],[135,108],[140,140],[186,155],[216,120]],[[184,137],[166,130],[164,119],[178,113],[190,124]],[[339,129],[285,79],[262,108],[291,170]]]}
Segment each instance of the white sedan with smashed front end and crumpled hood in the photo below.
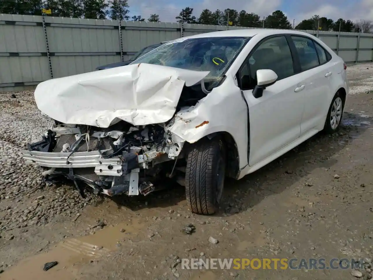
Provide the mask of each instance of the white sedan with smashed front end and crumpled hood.
{"label": "white sedan with smashed front end and crumpled hood", "polygon": [[241,29],[180,38],[130,65],[45,81],[54,126],[23,151],[109,196],[185,185],[191,211],[216,212],[225,176],[240,179],[318,131],[335,132],[346,65],[316,37]]}

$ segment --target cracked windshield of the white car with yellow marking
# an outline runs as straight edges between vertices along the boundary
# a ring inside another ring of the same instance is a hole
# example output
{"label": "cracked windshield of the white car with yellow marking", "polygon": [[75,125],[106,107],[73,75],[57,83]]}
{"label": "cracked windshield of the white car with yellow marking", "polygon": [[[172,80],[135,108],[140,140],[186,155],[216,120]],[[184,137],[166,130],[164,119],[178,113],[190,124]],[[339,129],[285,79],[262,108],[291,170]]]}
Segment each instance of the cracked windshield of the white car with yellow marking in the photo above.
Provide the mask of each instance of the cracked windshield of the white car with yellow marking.
{"label": "cracked windshield of the white car with yellow marking", "polygon": [[163,44],[135,60],[197,71],[210,71],[206,79],[222,76],[248,42],[248,37],[180,38]]}

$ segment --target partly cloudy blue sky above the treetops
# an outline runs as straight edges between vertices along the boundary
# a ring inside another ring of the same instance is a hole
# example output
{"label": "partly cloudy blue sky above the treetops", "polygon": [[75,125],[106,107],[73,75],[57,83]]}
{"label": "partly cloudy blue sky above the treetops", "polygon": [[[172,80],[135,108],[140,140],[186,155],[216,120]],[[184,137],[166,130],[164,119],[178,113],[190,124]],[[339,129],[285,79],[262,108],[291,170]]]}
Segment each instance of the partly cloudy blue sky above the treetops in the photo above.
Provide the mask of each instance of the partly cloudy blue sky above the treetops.
{"label": "partly cloudy blue sky above the treetops", "polygon": [[254,12],[262,17],[282,10],[289,21],[295,19],[295,24],[312,15],[334,20],[373,20],[373,0],[128,0],[128,3],[131,16],[142,15],[147,19],[151,13],[157,13],[163,22],[175,22],[175,16],[187,6],[194,8],[197,18],[203,9],[231,8]]}

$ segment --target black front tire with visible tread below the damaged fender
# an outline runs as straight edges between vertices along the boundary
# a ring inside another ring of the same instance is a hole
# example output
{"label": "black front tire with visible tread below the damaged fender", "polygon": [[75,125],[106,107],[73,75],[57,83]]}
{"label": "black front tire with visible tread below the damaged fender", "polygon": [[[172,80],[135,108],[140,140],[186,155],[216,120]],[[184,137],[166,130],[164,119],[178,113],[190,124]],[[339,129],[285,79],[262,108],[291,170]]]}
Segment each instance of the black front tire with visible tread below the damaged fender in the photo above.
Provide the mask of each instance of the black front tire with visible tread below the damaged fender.
{"label": "black front tire with visible tread below the damaged fender", "polygon": [[219,209],[225,179],[225,149],[219,138],[203,139],[188,152],[185,171],[186,201],[195,214]]}

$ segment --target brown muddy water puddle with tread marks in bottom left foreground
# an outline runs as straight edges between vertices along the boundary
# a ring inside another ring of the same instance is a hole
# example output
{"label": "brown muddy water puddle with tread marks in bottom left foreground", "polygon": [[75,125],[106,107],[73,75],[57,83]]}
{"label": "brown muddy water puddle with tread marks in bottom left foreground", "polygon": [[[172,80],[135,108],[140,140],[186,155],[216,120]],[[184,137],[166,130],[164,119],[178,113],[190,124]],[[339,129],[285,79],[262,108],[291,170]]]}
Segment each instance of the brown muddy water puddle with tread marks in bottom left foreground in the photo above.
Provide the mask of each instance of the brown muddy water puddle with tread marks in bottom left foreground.
{"label": "brown muddy water puddle with tread marks in bottom left foreground", "polygon": [[[109,256],[121,242],[131,235],[141,234],[145,223],[140,220],[107,226],[93,235],[69,238],[57,244],[46,253],[40,253],[23,259],[17,265],[4,271],[1,280],[75,280],[80,279],[79,268]],[[47,262],[58,264],[47,271],[43,270]]]}

